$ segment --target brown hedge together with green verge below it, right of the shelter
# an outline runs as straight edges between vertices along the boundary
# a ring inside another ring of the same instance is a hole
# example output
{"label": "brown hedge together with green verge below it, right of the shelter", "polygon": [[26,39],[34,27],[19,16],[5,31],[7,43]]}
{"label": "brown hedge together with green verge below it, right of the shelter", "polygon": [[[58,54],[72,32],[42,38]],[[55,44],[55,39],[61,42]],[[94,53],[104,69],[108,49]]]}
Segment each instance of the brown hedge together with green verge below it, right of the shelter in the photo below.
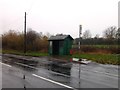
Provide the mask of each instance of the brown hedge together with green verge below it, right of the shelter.
{"label": "brown hedge together with green verge below it, right of the shelter", "polygon": [[120,64],[120,45],[81,45],[81,50],[73,46],[73,57],[86,58],[102,64]]}

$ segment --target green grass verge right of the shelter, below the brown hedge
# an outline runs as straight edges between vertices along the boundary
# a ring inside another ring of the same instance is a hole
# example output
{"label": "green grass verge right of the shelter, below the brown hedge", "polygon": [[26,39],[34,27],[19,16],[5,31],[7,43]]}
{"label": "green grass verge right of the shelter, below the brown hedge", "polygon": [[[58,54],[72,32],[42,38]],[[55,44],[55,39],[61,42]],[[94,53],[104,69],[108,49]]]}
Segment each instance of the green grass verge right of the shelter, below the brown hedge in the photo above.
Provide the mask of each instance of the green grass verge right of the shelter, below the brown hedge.
{"label": "green grass verge right of the shelter, below the brown hedge", "polygon": [[75,54],[72,57],[85,58],[97,63],[118,65],[119,54]]}

